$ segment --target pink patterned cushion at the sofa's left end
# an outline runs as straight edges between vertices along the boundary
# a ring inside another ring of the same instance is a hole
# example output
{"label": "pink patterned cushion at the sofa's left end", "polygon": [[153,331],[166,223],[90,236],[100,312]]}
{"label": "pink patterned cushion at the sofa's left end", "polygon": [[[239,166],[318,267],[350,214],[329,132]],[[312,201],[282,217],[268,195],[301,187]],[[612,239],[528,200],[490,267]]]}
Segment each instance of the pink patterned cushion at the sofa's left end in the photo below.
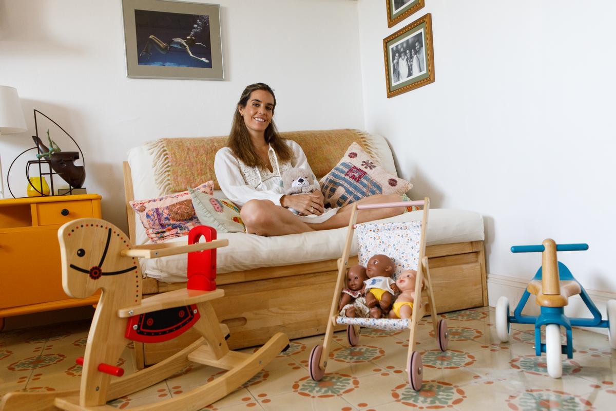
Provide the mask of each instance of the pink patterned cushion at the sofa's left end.
{"label": "pink patterned cushion at the sofa's left end", "polygon": [[[205,182],[195,190],[213,194],[214,182]],[[148,238],[153,243],[187,235],[192,227],[201,225],[188,191],[152,198],[151,200],[131,201],[130,204],[139,215],[141,224],[143,224]]]}

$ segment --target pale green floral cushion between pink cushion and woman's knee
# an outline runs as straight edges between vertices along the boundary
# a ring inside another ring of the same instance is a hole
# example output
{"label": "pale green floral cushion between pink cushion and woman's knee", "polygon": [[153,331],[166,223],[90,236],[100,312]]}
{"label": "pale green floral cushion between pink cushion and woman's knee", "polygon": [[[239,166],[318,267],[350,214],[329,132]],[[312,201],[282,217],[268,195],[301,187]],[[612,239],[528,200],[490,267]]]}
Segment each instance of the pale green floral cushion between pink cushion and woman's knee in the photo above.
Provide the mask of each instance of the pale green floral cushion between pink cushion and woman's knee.
{"label": "pale green floral cushion between pink cushion and woman's knee", "polygon": [[214,198],[193,189],[188,189],[188,192],[201,224],[214,227],[217,232],[246,232],[240,209],[231,200]]}

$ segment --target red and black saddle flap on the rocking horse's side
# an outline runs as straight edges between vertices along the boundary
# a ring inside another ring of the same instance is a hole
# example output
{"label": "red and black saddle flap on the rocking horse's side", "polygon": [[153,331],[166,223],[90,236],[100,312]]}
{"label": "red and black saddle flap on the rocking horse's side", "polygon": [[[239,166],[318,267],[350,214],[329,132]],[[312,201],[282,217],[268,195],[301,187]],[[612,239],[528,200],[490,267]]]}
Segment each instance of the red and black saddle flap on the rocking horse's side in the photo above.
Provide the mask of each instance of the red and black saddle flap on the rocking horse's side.
{"label": "red and black saddle flap on the rocking horse's side", "polygon": [[199,318],[196,304],[133,315],[128,319],[125,336],[140,343],[162,343],[182,335]]}

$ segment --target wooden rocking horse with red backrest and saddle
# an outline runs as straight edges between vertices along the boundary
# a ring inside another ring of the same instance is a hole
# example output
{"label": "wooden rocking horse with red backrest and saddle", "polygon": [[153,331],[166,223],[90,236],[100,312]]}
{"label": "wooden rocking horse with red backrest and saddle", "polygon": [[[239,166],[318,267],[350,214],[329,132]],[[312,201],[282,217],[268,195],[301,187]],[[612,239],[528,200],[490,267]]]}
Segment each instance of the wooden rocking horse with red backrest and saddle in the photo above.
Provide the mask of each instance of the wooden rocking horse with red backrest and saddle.
{"label": "wooden rocking horse with red backrest and saddle", "polygon": [[[202,235],[206,242],[200,243]],[[132,246],[128,236],[113,224],[82,218],[60,227],[58,238],[64,291],[73,298],[86,298],[102,290],[85,356],[77,359],[83,364],[81,387],[54,393],[6,394],[0,411],[115,410],[106,402],[158,383],[189,361],[228,370],[192,391],[132,409],[199,410],[237,389],[288,347],[286,335],[277,333],[253,354],[229,350],[225,340],[229,328],[219,324],[209,303],[224,296],[224,290],[216,289],[216,248],[229,241],[216,240],[216,230],[211,227],[191,230],[188,245]],[[142,300],[137,258],[180,253],[188,253],[188,287]],[[174,356],[127,376],[115,366],[131,340],[166,341],[190,327],[201,337]]]}

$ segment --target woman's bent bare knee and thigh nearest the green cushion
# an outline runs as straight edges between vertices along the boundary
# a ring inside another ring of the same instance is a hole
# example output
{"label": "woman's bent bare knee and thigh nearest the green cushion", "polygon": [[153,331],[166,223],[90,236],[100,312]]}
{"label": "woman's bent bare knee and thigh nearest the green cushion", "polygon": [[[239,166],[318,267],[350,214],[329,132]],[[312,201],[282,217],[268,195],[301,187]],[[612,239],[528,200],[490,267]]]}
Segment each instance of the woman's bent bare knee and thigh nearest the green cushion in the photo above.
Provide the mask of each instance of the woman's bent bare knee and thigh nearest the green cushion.
{"label": "woman's bent bare knee and thigh nearest the green cushion", "polygon": [[250,200],[240,210],[249,234],[285,235],[314,231],[298,216],[269,200]]}

